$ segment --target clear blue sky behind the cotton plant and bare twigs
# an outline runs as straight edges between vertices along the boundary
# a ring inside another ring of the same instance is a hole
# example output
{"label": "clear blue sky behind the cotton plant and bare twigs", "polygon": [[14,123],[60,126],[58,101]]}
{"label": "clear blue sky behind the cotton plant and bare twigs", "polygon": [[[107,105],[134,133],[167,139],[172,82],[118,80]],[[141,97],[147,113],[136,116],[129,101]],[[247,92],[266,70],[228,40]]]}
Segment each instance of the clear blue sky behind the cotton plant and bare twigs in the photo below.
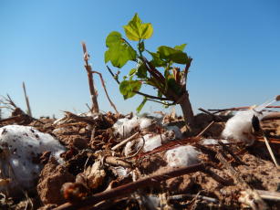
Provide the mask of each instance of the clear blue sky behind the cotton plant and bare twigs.
{"label": "clear blue sky behind the cotton plant and bare twigs", "polygon": [[[119,111],[135,110],[141,98],[123,100],[103,58],[109,32],[124,34],[135,13],[154,28],[146,41],[151,51],[188,44],[195,111],[259,104],[280,94],[280,1],[1,0],[0,95],[8,93],[26,110],[25,81],[36,117],[88,110],[85,41]],[[100,110],[112,110],[98,78],[95,83]],[[149,102],[143,111],[154,110],[164,109]]]}

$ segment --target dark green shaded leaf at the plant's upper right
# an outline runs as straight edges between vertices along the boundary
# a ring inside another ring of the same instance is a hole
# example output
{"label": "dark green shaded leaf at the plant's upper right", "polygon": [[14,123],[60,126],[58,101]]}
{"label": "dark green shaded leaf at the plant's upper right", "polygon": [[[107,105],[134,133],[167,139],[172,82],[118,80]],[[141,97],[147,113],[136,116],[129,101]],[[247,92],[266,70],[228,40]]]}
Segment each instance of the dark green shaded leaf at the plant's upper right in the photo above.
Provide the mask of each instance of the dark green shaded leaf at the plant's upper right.
{"label": "dark green shaded leaf at the plant's upper right", "polygon": [[158,48],[158,53],[160,54],[161,59],[173,61],[178,64],[186,64],[188,62],[187,54],[179,49],[175,49],[167,46],[161,46]]}

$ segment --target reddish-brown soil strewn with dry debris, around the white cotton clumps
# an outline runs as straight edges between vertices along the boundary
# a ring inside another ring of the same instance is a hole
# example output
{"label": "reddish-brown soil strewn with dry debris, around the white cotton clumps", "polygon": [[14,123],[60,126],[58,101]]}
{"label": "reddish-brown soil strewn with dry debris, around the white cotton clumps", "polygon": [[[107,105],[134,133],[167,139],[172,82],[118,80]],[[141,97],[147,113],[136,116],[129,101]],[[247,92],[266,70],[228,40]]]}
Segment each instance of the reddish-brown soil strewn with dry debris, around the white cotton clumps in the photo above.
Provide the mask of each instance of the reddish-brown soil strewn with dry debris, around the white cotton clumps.
{"label": "reddish-brown soil strewn with dry debris, around the white cotton clumps", "polygon": [[[162,145],[161,149],[157,151],[146,153],[139,151],[130,158],[123,156],[121,150],[123,147],[112,151],[112,147],[117,145],[121,139],[113,134],[111,127],[122,117],[122,115],[110,112],[95,118],[77,117],[67,112],[66,117],[58,123],[47,118],[28,119],[26,115],[24,118],[20,118],[20,121],[18,119],[0,121],[0,127],[7,124],[33,126],[38,131],[53,135],[67,147],[67,152],[61,155],[65,161],[63,164],[50,158],[49,153],[43,153],[40,161],[45,166],[34,189],[28,189],[25,194],[17,197],[5,196],[5,192],[3,192],[0,194],[0,209],[47,210],[65,203],[80,204],[79,209],[82,209],[85,207],[82,205],[83,200],[95,194],[171,170],[165,163],[163,155],[166,150],[174,147],[174,143]],[[167,121],[166,119],[169,119],[169,123],[182,125],[178,118],[166,117],[165,121]],[[213,121],[213,116],[197,115],[192,136],[200,133],[211,121]],[[223,131],[224,123],[224,121],[215,122],[202,136],[204,138],[218,138]],[[264,121],[261,125],[264,133],[273,140],[271,141],[272,150],[279,162],[280,120]],[[161,130],[155,127],[153,132],[158,133]],[[182,126],[181,131],[183,131]],[[204,171],[188,173],[177,177],[168,177],[160,184],[151,184],[149,187],[140,188],[132,194],[123,193],[116,197],[113,196],[91,209],[156,209],[150,207],[151,204],[155,203],[148,202],[151,195],[158,199],[163,209],[248,208],[248,205],[244,205],[239,200],[242,192],[246,191],[248,187],[254,190],[280,193],[279,169],[272,162],[263,138],[259,136],[257,139],[250,147],[245,147],[240,143],[232,143],[227,146],[228,150],[235,153],[241,162],[234,159],[219,145],[204,146],[206,149],[202,150],[200,155],[202,162],[211,163],[213,165],[210,169],[211,172],[229,181],[230,184],[219,183],[213,175]],[[198,140],[193,138],[183,140],[180,144],[196,146],[198,143]],[[213,152],[224,154],[225,160],[237,172],[237,176],[242,177],[245,186],[228,167],[213,156]],[[107,163],[106,157],[108,156],[116,157],[116,161]],[[90,168],[93,164],[95,164],[93,166],[96,167],[95,170]],[[264,199],[264,202],[268,209],[280,209],[279,199],[278,202]]]}

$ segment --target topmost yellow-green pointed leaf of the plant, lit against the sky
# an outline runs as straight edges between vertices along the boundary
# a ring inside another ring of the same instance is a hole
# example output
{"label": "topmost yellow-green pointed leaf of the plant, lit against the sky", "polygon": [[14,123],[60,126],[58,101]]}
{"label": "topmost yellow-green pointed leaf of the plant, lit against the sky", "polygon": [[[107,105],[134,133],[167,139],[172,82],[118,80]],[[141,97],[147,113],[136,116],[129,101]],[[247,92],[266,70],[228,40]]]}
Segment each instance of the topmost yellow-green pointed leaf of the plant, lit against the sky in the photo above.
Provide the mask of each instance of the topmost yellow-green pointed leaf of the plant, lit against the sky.
{"label": "topmost yellow-green pointed leaf of the plant, lit against the sky", "polygon": [[142,24],[142,21],[137,13],[130,20],[129,24],[123,27],[126,36],[133,41],[150,38],[153,32],[151,24]]}

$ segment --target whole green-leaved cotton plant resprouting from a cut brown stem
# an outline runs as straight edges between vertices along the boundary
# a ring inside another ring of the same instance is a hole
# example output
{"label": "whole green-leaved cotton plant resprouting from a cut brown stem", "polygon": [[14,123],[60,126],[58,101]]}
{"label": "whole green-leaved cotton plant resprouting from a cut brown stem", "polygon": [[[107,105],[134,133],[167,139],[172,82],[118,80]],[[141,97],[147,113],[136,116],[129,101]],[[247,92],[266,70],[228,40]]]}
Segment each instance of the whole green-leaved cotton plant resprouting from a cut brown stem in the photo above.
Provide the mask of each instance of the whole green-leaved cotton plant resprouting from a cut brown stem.
{"label": "whole green-leaved cotton plant resprouting from a cut brown stem", "polygon": [[[150,23],[142,23],[138,14],[135,14],[123,28],[127,39],[138,42],[137,48],[131,47],[130,42],[119,32],[113,31],[106,38],[108,50],[105,52],[105,63],[110,61],[113,67],[123,68],[128,61],[135,62],[135,68],[130,69],[130,73],[120,82],[120,71],[114,74],[109,68],[119,83],[119,91],[124,99],[130,99],[136,94],[142,95],[143,100],[137,108],[138,112],[148,100],[160,102],[167,107],[179,104],[184,120],[187,124],[191,124],[193,112],[186,80],[192,58],[183,51],[186,44],[175,47],[161,46],[156,52],[148,50],[145,47],[145,40],[152,36],[153,27]],[[184,65],[185,68],[181,70],[174,66],[176,64]],[[156,89],[157,96],[140,92],[142,85]]]}

